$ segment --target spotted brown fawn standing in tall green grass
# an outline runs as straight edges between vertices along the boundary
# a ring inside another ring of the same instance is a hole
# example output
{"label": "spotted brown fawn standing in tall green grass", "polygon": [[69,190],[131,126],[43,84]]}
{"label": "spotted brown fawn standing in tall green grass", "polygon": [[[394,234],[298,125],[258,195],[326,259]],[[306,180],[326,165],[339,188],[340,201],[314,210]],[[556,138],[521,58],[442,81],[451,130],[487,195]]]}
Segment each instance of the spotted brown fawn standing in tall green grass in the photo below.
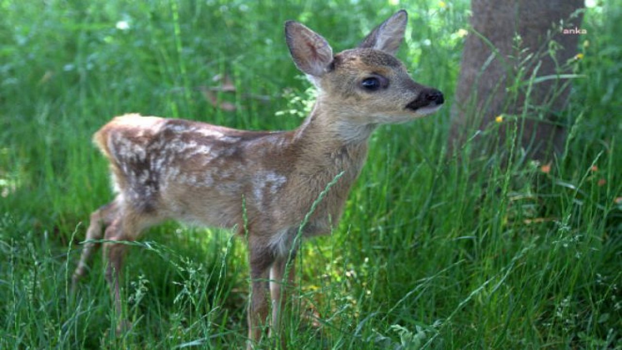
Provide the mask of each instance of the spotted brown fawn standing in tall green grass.
{"label": "spotted brown fawn standing in tall green grass", "polygon": [[248,348],[261,338],[271,305],[271,331],[279,333],[297,235],[328,234],[337,225],[377,125],[429,115],[443,104],[439,90],[414,82],[394,57],[406,22],[406,11],[396,12],[356,49],[337,55],[319,34],[286,22],[292,59],[317,88],[315,106],[296,130],[243,131],[137,114],[104,125],[93,140],[108,158],[117,194],[91,214],[74,285],[88,270],[93,241],[104,238],[106,280],[121,315],[128,245],[118,241],[134,241],[165,219],[236,227],[249,247]]}

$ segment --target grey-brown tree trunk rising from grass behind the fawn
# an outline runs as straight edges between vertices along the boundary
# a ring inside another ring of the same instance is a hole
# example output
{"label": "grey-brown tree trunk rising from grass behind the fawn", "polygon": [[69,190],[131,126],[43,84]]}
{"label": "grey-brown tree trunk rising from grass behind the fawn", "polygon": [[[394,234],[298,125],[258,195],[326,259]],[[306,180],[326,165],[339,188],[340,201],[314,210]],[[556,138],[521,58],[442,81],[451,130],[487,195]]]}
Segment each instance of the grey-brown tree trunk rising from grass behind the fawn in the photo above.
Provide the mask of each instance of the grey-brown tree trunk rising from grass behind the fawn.
{"label": "grey-brown tree trunk rising from grass behind the fawn", "polygon": [[475,130],[498,121],[498,129],[482,133],[498,135],[498,141],[478,136],[472,149],[507,154],[506,139],[518,126],[516,146],[530,158],[550,159],[563,150],[560,112],[570,82],[559,74],[570,72],[566,64],[577,55],[579,37],[564,29],[580,29],[582,6],[583,0],[471,1],[473,30],[466,37],[452,108],[450,148],[460,148]]}

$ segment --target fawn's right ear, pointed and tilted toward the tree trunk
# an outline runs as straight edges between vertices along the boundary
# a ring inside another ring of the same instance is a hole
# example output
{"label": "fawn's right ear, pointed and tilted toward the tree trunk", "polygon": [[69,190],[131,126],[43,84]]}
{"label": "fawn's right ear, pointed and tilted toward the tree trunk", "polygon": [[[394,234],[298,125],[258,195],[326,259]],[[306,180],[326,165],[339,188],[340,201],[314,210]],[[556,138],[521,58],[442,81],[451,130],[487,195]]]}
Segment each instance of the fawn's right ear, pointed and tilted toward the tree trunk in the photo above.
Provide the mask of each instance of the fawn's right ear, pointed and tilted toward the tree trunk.
{"label": "fawn's right ear, pointed and tilted toward the tree trunk", "polygon": [[408,14],[404,10],[397,11],[380,26],[376,27],[358,47],[376,49],[395,55],[404,40]]}

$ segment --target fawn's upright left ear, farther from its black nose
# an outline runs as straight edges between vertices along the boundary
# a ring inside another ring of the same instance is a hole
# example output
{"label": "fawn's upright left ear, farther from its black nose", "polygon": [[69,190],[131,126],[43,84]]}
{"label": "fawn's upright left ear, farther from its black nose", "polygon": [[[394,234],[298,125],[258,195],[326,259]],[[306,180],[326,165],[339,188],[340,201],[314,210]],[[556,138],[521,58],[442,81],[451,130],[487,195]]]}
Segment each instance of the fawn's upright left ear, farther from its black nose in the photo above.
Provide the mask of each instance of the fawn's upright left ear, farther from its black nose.
{"label": "fawn's upright left ear, farther from its black nose", "polygon": [[285,22],[285,40],[294,64],[302,72],[321,77],[333,62],[333,49],[322,35],[294,21]]}

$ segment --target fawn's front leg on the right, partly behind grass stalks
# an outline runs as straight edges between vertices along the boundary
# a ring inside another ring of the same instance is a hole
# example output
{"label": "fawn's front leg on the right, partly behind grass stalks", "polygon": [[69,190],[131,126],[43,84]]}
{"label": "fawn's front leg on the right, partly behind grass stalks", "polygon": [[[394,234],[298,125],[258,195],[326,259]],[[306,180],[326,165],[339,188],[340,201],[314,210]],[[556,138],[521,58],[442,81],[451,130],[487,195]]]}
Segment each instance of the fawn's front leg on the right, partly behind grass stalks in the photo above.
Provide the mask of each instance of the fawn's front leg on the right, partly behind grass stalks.
{"label": "fawn's front leg on the right, partly behind grass stalks", "polygon": [[270,335],[281,340],[281,348],[285,349],[285,337],[281,321],[284,318],[285,307],[289,301],[287,290],[294,286],[295,257],[278,257],[270,268],[270,295],[272,299],[272,326]]}

